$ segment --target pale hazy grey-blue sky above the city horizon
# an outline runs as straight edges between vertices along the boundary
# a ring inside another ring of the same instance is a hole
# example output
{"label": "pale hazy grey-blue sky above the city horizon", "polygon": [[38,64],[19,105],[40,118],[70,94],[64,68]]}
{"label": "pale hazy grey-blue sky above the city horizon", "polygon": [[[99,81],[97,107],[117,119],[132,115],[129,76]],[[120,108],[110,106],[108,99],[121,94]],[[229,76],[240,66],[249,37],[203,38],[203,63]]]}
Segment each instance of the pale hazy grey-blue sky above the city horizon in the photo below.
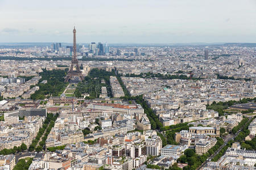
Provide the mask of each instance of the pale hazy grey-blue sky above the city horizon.
{"label": "pale hazy grey-blue sky above the city horizon", "polygon": [[256,42],[256,0],[0,0],[0,42]]}

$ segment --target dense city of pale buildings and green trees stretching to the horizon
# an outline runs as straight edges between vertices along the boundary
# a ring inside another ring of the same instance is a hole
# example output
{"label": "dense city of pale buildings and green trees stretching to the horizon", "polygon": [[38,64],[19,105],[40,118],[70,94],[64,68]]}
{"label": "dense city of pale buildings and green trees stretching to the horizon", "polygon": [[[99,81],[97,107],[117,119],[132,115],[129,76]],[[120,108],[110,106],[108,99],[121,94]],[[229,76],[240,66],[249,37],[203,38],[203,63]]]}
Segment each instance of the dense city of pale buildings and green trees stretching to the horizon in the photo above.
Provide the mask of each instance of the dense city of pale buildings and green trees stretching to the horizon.
{"label": "dense city of pale buildings and green trees stretching to the horizon", "polygon": [[256,169],[255,46],[75,48],[1,46],[1,169]]}

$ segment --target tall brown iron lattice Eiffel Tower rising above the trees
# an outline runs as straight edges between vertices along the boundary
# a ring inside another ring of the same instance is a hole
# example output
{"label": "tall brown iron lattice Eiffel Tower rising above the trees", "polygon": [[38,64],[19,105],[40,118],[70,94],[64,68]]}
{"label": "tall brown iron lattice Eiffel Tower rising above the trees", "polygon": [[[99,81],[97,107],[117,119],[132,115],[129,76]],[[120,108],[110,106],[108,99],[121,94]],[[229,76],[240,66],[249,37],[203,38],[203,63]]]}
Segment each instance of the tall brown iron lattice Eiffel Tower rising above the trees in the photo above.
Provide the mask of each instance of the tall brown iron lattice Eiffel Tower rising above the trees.
{"label": "tall brown iron lattice Eiffel Tower rising above the trees", "polygon": [[71,61],[71,66],[68,70],[68,75],[65,78],[65,82],[68,82],[71,78],[79,77],[82,80],[84,80],[84,76],[82,76],[82,71],[79,67],[79,62],[76,56],[76,28],[74,26],[73,29],[73,56]]}

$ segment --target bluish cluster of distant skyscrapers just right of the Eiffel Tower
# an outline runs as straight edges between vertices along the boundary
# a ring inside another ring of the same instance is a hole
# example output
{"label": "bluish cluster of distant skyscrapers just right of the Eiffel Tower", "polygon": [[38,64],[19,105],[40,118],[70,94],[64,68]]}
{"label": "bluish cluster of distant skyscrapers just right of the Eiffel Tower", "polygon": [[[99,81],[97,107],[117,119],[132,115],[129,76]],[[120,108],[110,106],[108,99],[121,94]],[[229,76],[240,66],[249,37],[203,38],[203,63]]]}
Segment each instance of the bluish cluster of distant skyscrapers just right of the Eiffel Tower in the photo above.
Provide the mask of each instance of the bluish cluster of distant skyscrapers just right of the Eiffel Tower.
{"label": "bluish cluster of distant skyscrapers just right of the Eiffel Tower", "polygon": [[94,56],[103,56],[103,55],[109,55],[109,45],[108,44],[102,44],[101,42],[98,42],[98,45],[95,42],[91,42],[89,44],[89,53],[92,53]]}

